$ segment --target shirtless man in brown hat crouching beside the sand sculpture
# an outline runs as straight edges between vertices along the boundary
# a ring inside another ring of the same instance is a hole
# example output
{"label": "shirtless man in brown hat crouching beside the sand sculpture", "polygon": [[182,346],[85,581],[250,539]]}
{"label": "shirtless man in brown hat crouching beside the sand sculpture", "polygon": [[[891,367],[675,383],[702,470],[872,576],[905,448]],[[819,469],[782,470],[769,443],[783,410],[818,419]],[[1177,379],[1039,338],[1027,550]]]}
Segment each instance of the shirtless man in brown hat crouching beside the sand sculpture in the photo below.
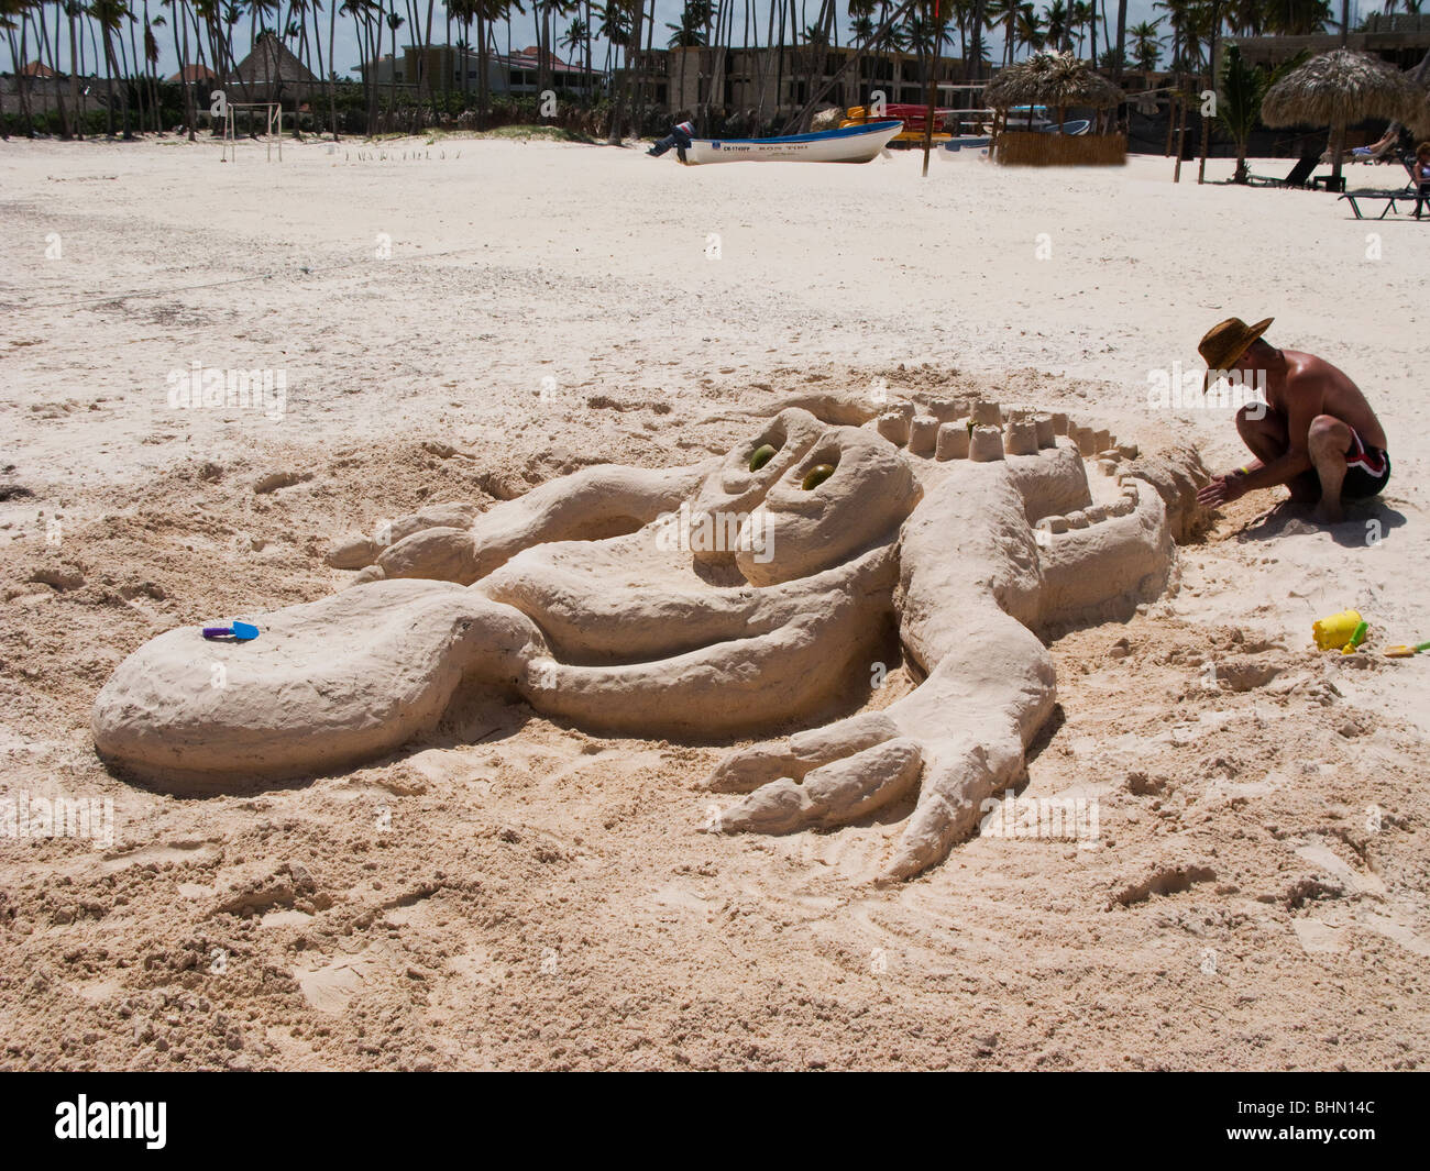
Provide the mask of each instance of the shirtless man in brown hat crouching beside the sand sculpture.
{"label": "shirtless man in brown hat crouching beside the sand sculpture", "polygon": [[1217,476],[1197,499],[1216,508],[1284,483],[1293,500],[1318,500],[1316,519],[1334,525],[1341,496],[1374,496],[1390,479],[1386,432],[1356,383],[1330,362],[1267,345],[1261,335],[1270,325],[1271,317],[1253,326],[1230,317],[1197,347],[1210,370],[1241,370],[1247,385],[1260,372],[1267,399],[1237,412],[1237,430],[1256,459]]}

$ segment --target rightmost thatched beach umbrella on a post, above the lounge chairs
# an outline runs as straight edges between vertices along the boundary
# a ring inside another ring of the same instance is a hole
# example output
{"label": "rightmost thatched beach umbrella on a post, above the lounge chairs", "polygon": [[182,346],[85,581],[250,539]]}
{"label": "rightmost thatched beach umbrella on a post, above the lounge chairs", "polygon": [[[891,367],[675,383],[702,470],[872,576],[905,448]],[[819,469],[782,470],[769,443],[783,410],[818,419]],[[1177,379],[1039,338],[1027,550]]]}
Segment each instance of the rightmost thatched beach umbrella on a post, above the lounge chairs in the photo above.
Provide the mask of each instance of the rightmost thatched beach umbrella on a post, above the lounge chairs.
{"label": "rightmost thatched beach umbrella on a post, above the lounge chairs", "polygon": [[1261,122],[1267,126],[1328,126],[1331,172],[1340,186],[1346,127],[1369,117],[1414,122],[1416,102],[1423,102],[1410,76],[1369,53],[1333,49],[1311,57],[1286,74],[1261,99]]}

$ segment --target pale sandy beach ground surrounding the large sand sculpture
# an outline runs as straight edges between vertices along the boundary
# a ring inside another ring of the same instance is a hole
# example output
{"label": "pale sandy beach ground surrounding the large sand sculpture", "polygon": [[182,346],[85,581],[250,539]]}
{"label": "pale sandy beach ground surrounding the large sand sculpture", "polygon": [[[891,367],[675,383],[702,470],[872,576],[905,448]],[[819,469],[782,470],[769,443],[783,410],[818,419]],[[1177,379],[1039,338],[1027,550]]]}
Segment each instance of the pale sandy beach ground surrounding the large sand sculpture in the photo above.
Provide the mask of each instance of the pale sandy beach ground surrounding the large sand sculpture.
{"label": "pale sandy beach ground surrounding the large sand sculpture", "polygon": [[[113,809],[112,842],[0,836],[0,1068],[1424,1067],[1430,658],[1380,649],[1430,639],[1430,224],[1160,157],[918,163],[0,146],[0,796]],[[342,535],[696,463],[782,396],[981,393],[1227,470],[1230,412],[1148,377],[1231,316],[1344,369],[1393,476],[1333,529],[1251,493],[1174,591],[1051,645],[1020,799],[1095,801],[1093,841],[874,884],[908,805],[702,834],[728,741],[521,705],[204,799],[94,754],[126,655],[332,593]],[[193,363],[282,399],[172,406]],[[1346,608],[1370,651],[1316,651]]]}

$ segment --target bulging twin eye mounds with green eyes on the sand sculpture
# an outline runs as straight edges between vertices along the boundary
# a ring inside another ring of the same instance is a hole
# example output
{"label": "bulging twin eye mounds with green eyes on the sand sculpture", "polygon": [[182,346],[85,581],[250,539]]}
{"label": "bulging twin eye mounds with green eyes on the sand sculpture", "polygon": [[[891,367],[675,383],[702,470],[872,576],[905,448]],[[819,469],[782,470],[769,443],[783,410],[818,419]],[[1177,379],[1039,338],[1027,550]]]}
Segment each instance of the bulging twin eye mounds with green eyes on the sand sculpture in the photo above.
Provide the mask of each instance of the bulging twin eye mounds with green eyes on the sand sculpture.
{"label": "bulging twin eye mounds with green eyes on the sand sculpture", "polygon": [[918,496],[908,462],[875,432],[782,410],[706,479],[689,549],[734,562],[751,585],[789,582],[892,539]]}

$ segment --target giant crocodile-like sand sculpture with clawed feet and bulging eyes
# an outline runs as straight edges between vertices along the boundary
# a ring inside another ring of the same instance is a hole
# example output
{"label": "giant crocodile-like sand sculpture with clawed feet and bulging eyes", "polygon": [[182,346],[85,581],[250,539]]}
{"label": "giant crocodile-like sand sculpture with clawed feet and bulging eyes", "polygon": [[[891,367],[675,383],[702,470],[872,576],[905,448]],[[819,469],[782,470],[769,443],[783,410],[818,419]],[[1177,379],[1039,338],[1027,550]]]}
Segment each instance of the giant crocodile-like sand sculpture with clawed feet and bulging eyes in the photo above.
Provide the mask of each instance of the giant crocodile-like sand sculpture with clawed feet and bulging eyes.
{"label": "giant crocodile-like sand sculpture with clawed feet and bulging eyes", "polygon": [[1190,449],[1137,456],[991,402],[801,397],[724,459],[588,468],[469,525],[436,510],[386,548],[349,540],[329,560],[366,566],[358,585],[260,616],[256,642],[189,628],[130,655],[94,742],[207,794],[380,756],[478,688],[592,731],[739,738],[867,686],[894,619],[909,695],[732,751],[708,785],[745,794],[728,832],[838,825],[917,786],[885,866],[914,875],[1022,772],[1055,696],[1040,635],[1167,588],[1207,473]]}

